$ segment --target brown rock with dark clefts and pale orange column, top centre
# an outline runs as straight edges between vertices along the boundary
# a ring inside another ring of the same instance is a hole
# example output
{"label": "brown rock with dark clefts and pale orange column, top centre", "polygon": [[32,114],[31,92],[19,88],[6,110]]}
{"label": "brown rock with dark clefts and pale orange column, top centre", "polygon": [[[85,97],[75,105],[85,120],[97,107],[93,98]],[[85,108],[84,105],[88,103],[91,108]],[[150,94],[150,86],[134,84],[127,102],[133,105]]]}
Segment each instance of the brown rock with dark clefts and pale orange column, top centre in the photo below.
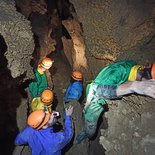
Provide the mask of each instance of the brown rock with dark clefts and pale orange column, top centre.
{"label": "brown rock with dark clefts and pale orange column, top centre", "polygon": [[38,57],[63,50],[73,70],[79,69],[85,74],[88,64],[82,28],[69,1],[16,0],[16,6],[31,22],[39,45],[35,47]]}

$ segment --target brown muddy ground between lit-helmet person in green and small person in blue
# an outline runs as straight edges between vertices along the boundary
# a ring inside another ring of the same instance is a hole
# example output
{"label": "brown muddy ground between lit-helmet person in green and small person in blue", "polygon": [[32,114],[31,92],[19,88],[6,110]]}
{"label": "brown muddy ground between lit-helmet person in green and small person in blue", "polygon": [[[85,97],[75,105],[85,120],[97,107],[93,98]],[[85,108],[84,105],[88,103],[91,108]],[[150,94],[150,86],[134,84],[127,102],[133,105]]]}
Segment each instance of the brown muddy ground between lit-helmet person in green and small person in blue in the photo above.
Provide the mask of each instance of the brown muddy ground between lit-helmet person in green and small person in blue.
{"label": "brown muddy ground between lit-helmet person in green and small person in blue", "polygon": [[63,89],[65,89],[70,81],[71,67],[64,56],[60,54],[53,54],[54,64],[50,69],[55,93],[54,108],[62,113],[63,111]]}

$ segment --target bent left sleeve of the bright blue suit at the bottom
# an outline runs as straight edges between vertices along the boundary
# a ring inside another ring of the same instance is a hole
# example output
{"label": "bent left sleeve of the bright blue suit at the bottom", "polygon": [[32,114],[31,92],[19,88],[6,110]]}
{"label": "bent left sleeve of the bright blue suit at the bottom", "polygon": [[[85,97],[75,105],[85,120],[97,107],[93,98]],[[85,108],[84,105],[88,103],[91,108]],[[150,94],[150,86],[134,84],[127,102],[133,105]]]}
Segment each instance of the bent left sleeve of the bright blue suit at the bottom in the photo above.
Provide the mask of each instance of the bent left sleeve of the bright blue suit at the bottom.
{"label": "bent left sleeve of the bright blue suit at the bottom", "polygon": [[29,137],[32,136],[33,129],[30,127],[26,127],[22,130],[15,139],[15,145],[24,145],[28,143]]}

